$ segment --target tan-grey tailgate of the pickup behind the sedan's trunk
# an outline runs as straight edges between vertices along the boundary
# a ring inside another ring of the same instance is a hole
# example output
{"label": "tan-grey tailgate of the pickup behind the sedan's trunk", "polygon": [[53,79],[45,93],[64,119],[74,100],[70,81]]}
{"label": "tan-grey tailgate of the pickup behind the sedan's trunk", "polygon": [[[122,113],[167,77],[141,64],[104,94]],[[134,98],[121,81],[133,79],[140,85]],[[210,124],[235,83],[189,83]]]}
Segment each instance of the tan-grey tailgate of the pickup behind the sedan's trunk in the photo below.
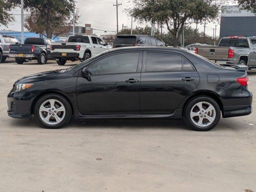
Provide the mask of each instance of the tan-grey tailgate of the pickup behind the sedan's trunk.
{"label": "tan-grey tailgate of the pickup behind the sedan's trunk", "polygon": [[229,47],[198,46],[198,54],[209,60],[228,60]]}

